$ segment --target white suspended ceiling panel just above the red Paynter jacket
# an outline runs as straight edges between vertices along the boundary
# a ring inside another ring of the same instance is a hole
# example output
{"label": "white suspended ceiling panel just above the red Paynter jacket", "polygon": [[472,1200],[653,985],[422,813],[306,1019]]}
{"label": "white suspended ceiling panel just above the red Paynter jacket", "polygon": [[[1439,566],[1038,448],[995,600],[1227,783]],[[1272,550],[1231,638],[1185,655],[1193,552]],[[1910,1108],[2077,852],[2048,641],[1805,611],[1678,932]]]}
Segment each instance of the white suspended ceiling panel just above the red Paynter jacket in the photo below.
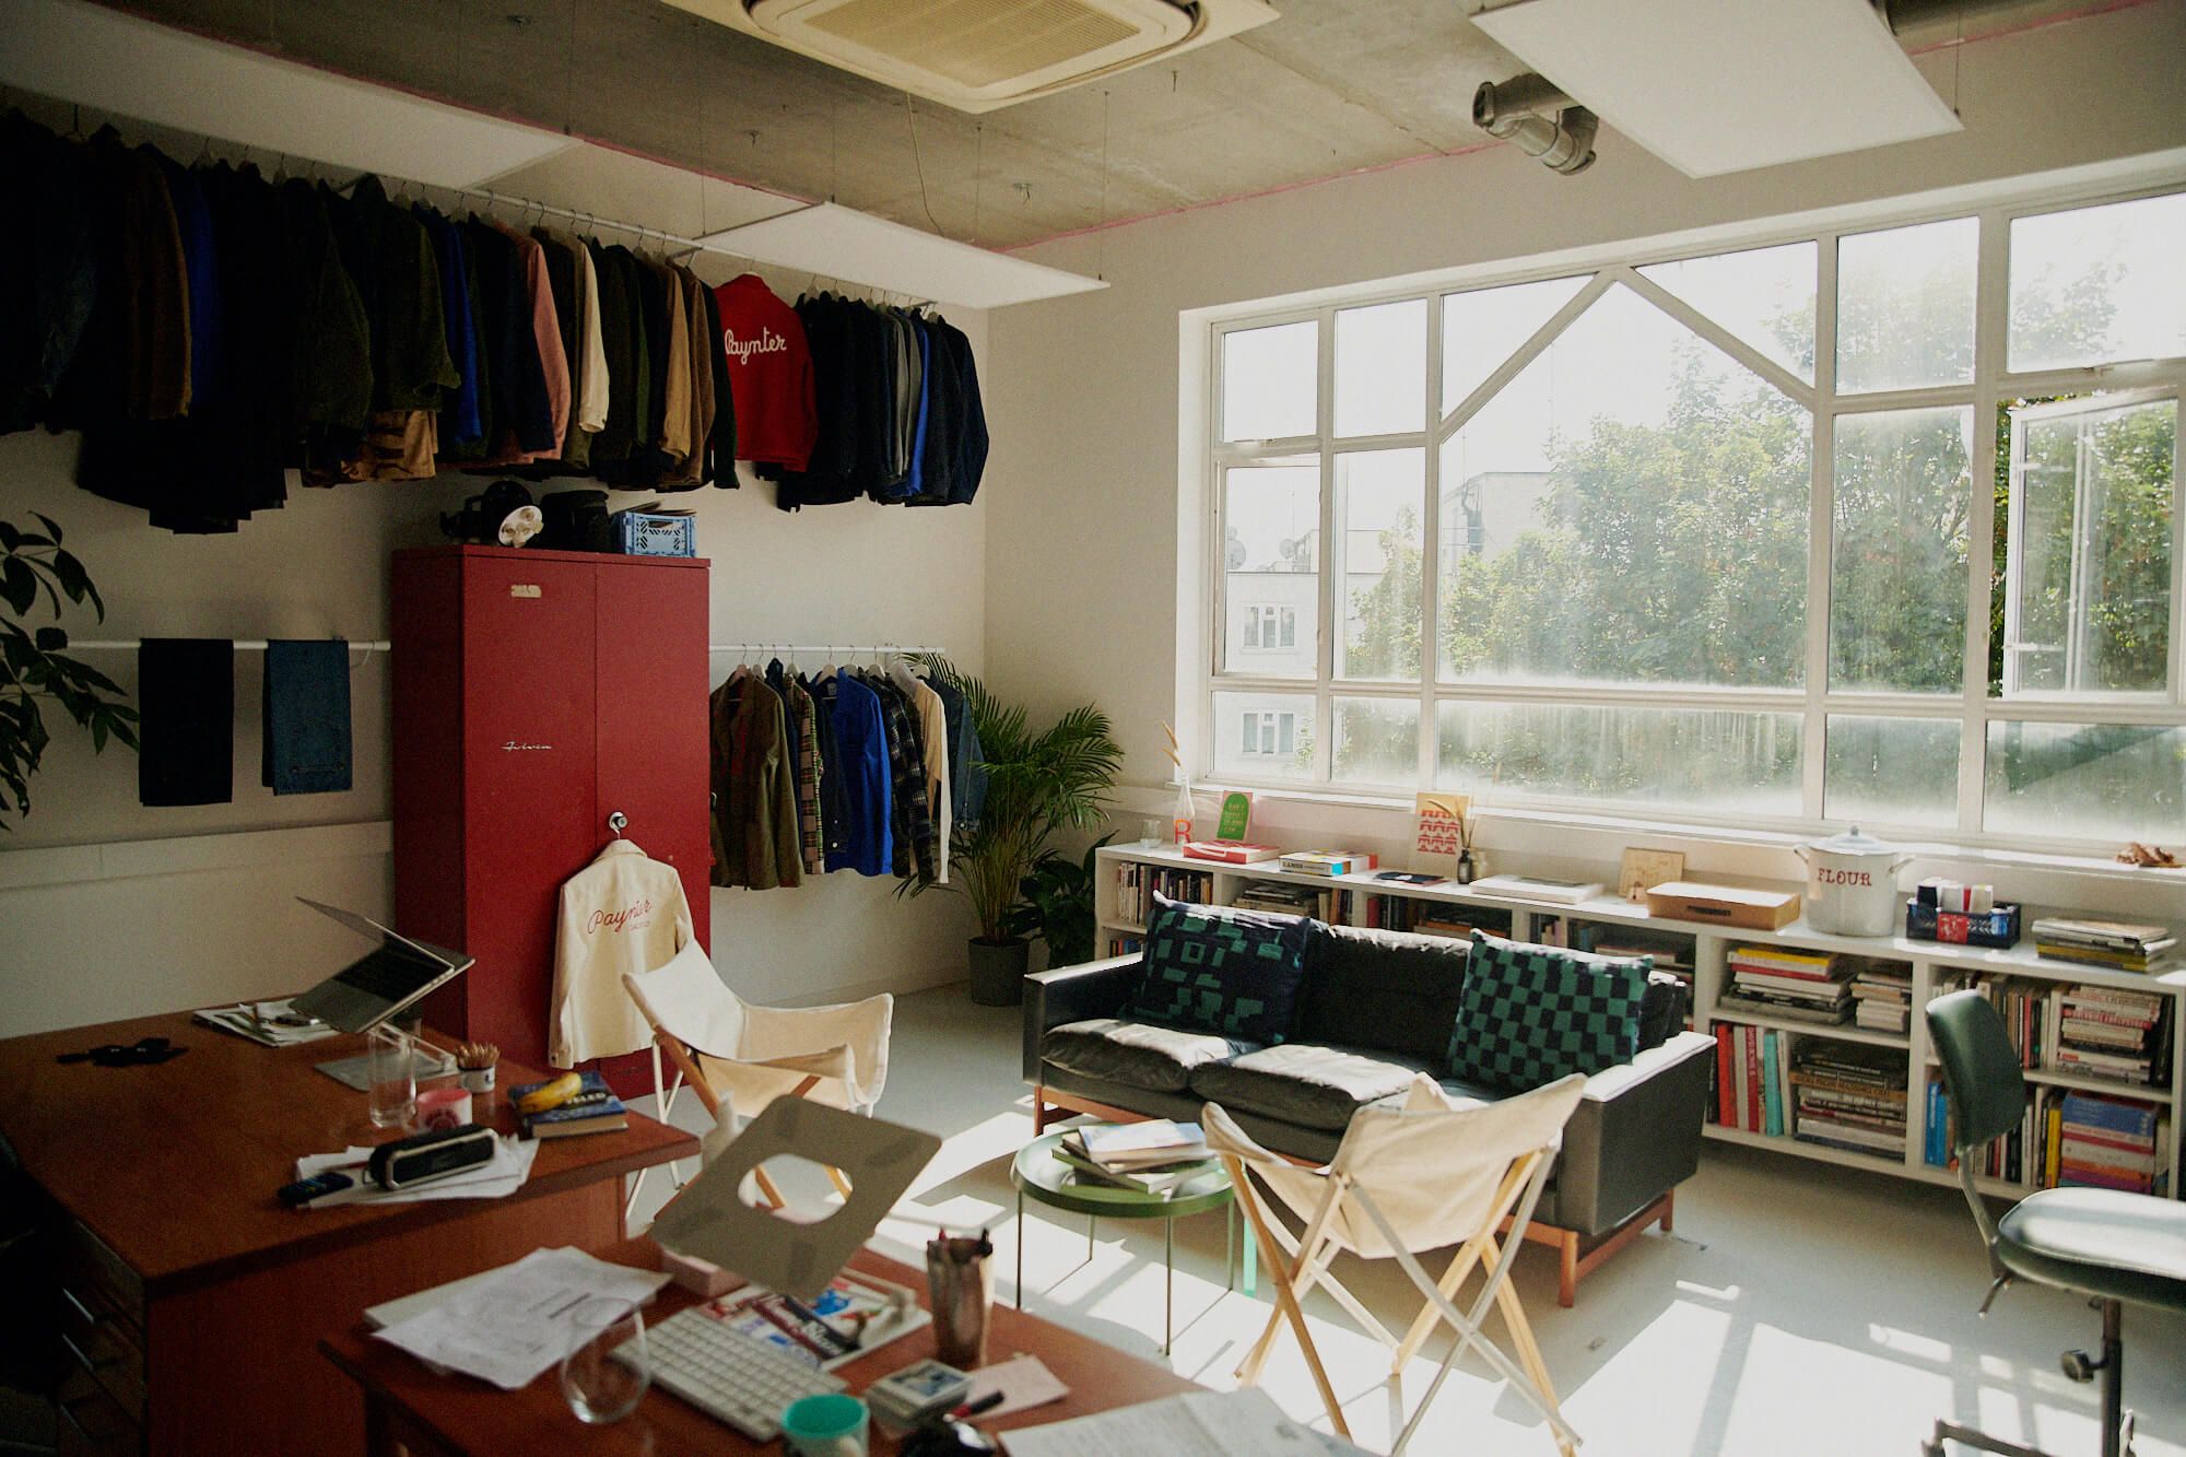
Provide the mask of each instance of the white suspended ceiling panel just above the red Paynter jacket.
{"label": "white suspended ceiling panel just above the red Paynter jacket", "polygon": [[837,203],[813,203],[702,241],[754,263],[778,263],[962,308],[1006,308],[1108,287],[1084,273],[951,243]]}

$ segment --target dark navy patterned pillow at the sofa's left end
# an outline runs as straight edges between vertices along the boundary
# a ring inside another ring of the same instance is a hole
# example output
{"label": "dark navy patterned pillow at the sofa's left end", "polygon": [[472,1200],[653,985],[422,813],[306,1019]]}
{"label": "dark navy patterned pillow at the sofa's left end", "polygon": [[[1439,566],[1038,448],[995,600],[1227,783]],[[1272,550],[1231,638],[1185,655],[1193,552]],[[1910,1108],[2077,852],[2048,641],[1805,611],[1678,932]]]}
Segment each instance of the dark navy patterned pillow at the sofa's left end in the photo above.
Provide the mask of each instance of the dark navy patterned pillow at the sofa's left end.
{"label": "dark navy patterned pillow at the sofa's left end", "polygon": [[1126,1017],[1277,1044],[1305,980],[1305,919],[1154,897]]}

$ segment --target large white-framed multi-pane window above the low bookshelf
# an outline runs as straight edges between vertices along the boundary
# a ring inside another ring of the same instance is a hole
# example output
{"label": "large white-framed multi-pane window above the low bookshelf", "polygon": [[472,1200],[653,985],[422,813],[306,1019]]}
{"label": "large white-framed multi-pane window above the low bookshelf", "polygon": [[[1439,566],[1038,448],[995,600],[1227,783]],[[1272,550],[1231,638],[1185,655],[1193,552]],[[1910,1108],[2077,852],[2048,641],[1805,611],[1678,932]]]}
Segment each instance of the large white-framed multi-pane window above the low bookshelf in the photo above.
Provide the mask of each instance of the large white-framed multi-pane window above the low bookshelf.
{"label": "large white-framed multi-pane window above the low bookshelf", "polygon": [[1200,764],[2186,840],[2186,193],[1218,324]]}

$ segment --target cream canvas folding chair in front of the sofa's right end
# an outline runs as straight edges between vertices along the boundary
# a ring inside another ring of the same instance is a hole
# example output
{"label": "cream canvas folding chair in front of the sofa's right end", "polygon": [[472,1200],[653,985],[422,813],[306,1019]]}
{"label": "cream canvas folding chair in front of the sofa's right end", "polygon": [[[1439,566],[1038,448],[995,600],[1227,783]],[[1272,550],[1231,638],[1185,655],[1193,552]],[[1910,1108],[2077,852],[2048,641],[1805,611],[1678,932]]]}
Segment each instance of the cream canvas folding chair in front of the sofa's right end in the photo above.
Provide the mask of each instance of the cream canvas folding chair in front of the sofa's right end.
{"label": "cream canvas folding chair in front of the sofa's right end", "polygon": [[[1360,1109],[1327,1168],[1301,1168],[1261,1149],[1222,1105],[1209,1103],[1200,1116],[1207,1146],[1229,1168],[1274,1286],[1274,1310],[1268,1313],[1268,1326],[1237,1367],[1237,1380],[1248,1387],[1259,1383],[1261,1367],[1288,1321],[1329,1420],[1340,1435],[1351,1435],[1336,1387],[1329,1385],[1327,1367],[1305,1326],[1303,1299],[1323,1289],[1368,1334],[1390,1348],[1395,1361],[1388,1383],[1399,1404],[1403,1367],[1434,1328],[1447,1324],[1456,1337],[1392,1453],[1401,1453],[1412,1439],[1458,1354],[1476,1350],[1546,1418],[1556,1450],[1572,1457],[1578,1433],[1556,1404],[1541,1348],[1511,1286],[1511,1262],[1526,1238],[1526,1225],[1563,1142],[1563,1124],[1578,1107],[1585,1079],[1574,1074],[1502,1103],[1473,1105],[1454,1103],[1441,1085],[1419,1076],[1403,1107]],[[1292,1236],[1274,1216],[1268,1194],[1303,1221],[1301,1234]],[[1504,1219],[1511,1219],[1511,1229],[1497,1240]],[[1434,1280],[1421,1267],[1419,1254],[1447,1245],[1456,1245],[1458,1251],[1443,1278]],[[1329,1264],[1342,1251],[1366,1260],[1395,1258],[1419,1286],[1425,1306],[1403,1337],[1390,1334],[1329,1273]],[[1476,1267],[1484,1271],[1484,1284],[1460,1308],[1458,1291]],[[1502,1310],[1511,1343],[1517,1348],[1515,1361],[1480,1330],[1491,1304]]]}

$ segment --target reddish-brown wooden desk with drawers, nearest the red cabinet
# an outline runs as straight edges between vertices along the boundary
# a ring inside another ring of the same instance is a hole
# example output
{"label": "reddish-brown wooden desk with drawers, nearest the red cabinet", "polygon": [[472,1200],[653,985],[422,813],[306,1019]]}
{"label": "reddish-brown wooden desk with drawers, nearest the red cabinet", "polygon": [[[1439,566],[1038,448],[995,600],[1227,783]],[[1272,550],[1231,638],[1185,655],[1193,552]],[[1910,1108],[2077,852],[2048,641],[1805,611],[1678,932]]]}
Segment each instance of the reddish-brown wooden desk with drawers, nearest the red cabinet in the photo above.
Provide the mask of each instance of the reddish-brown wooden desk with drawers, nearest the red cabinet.
{"label": "reddish-brown wooden desk with drawers, nearest the red cabinet", "polygon": [[[190,1050],[55,1063],[153,1035]],[[623,1175],[697,1153],[632,1114],[623,1133],[540,1146],[507,1199],[286,1210],[273,1190],[297,1155],[396,1138],[372,1127],[365,1094],[315,1070],[359,1050],[260,1048],[188,1013],[0,1041],[0,1140],[46,1201],[61,1286],[63,1453],[359,1453],[356,1394],[317,1337],[540,1245],[616,1245]],[[501,1065],[503,1089],[533,1076]],[[514,1129],[507,1096],[479,1120]]]}

